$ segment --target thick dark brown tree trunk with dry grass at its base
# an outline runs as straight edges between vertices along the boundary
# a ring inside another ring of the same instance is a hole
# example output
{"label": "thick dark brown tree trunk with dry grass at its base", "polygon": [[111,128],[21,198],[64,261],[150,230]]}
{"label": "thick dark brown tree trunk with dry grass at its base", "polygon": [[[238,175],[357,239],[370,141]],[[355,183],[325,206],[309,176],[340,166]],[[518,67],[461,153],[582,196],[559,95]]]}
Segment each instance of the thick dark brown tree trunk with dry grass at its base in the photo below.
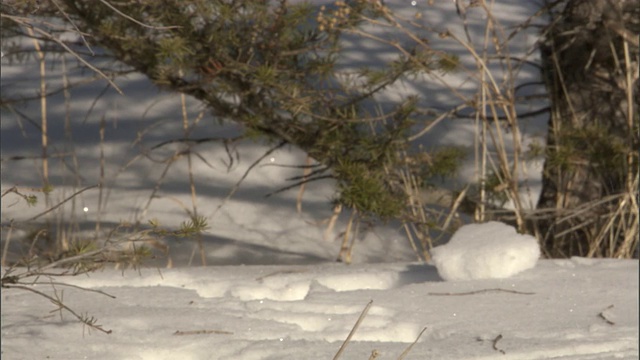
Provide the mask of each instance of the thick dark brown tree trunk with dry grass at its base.
{"label": "thick dark brown tree trunk with dry grass at its base", "polygon": [[552,109],[542,247],[552,257],[616,256],[634,231],[609,223],[630,186],[637,195],[640,1],[569,0],[552,20],[542,46]]}

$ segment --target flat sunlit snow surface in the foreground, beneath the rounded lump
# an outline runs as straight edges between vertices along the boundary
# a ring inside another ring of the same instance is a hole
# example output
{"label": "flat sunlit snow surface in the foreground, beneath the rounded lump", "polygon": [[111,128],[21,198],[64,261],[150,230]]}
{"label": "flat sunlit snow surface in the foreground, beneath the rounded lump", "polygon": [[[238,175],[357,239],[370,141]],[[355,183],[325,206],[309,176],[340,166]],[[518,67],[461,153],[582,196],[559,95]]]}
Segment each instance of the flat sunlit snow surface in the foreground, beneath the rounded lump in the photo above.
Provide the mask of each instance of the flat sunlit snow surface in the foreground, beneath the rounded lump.
{"label": "flat sunlit snow surface in the foreground, beneath the rounded lump", "polygon": [[397,359],[425,327],[406,359],[637,359],[638,270],[582,258],[463,282],[417,263],[106,270],[56,281],[115,299],[56,288],[110,335],[3,289],[2,359],[331,359],[370,300],[342,359]]}

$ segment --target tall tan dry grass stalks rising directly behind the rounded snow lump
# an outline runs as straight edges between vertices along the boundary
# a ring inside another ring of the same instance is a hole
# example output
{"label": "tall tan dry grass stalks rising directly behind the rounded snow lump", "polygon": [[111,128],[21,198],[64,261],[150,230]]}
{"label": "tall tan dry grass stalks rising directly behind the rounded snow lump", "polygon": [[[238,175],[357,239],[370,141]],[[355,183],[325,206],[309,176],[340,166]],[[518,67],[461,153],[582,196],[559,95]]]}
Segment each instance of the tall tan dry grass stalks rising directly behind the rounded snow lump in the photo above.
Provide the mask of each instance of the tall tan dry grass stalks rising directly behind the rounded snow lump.
{"label": "tall tan dry grass stalks rising directly behind the rounded snow lump", "polygon": [[[435,38],[447,38],[464,48],[474,59],[475,67],[467,68],[464,64],[458,64],[458,73],[467,76],[468,81],[475,84],[477,92],[465,95],[457,90],[450,83],[450,78],[437,71],[424,68],[429,81],[442,84],[448,89],[452,98],[459,100],[458,105],[451,109],[445,109],[439,114],[432,116],[426,122],[423,130],[410,138],[411,141],[418,141],[422,135],[428,134],[436,125],[456,117],[457,113],[463,110],[472,110],[476,124],[475,136],[475,159],[476,159],[476,182],[477,195],[472,195],[470,187],[463,188],[458,193],[436,190],[434,195],[425,196],[421,185],[421,180],[411,171],[410,162],[414,161],[410,154],[401,154],[407,159],[407,168],[400,171],[400,177],[409,199],[409,221],[405,223],[405,230],[411,239],[411,244],[420,258],[428,260],[429,250],[434,246],[434,239],[430,235],[432,230],[440,232],[450,232],[455,230],[461,223],[458,220],[458,212],[463,202],[473,199],[476,204],[474,218],[476,221],[486,221],[494,216],[491,213],[491,205],[487,194],[492,192],[502,193],[514,207],[515,225],[520,231],[526,230],[526,219],[530,211],[523,204],[522,193],[527,193],[527,189],[521,189],[521,173],[526,170],[527,164],[523,154],[522,137],[520,133],[520,118],[516,111],[516,106],[521,99],[517,97],[515,87],[518,85],[518,71],[522,63],[527,59],[514,59],[509,54],[507,46],[518,31],[523,31],[523,27],[518,27],[512,32],[507,32],[505,28],[493,17],[492,5],[479,2],[480,10],[487,18],[486,32],[480,44],[471,40],[470,29],[466,18],[463,18],[464,29],[467,38],[460,38],[446,29],[431,29],[422,25],[417,18],[404,18],[392,13],[388,8],[382,6],[384,21],[377,19],[367,19],[376,27],[388,27],[394,31],[400,31],[403,36],[411,40],[411,45],[403,45],[394,40],[386,40],[381,37],[358,32],[358,35],[368,39],[384,43],[394,47],[400,54],[412,57],[412,51],[424,51],[432,53],[434,56],[445,58],[445,52],[434,49],[430,42],[426,40],[429,36]],[[539,16],[536,14],[535,16]],[[531,22],[530,19],[528,22]],[[425,36],[426,34],[426,36]],[[418,50],[409,50],[416,46]],[[480,48],[480,50],[478,50]],[[417,60],[416,60],[417,61]],[[496,73],[494,64],[498,63],[502,71]],[[508,131],[507,131],[508,129]],[[487,188],[486,179],[489,174],[495,174],[499,183],[493,188]],[[526,186],[526,185],[525,185]],[[426,202],[425,202],[426,200]],[[532,201],[529,200],[528,203]],[[434,205],[436,207],[434,208]],[[449,210],[442,210],[442,208]],[[439,210],[438,210],[439,209]],[[453,221],[458,220],[458,221]],[[437,240],[435,241],[437,243]]]}

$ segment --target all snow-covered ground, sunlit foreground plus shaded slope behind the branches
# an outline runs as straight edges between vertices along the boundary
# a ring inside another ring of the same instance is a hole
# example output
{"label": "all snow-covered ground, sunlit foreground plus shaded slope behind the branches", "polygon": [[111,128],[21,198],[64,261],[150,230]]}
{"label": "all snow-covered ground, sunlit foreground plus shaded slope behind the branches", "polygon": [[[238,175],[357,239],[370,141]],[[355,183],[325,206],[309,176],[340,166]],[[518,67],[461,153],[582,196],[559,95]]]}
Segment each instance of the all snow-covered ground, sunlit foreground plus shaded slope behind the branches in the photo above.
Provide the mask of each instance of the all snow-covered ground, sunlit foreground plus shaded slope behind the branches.
{"label": "all snow-covered ground, sunlit foreground plus shaded slope behind the branches", "polygon": [[[462,34],[462,23],[450,1],[417,1],[415,6],[402,0],[385,3],[408,16],[422,12],[425,25]],[[494,8],[505,28],[513,29],[537,5],[504,1]],[[473,34],[482,34],[485,19],[477,9],[468,14]],[[475,40],[481,42],[481,38]],[[523,33],[512,43],[513,55],[529,56],[527,51],[535,40],[534,33]],[[385,59],[382,50],[370,44],[352,45],[349,61],[353,66]],[[358,47],[365,50],[358,52]],[[461,49],[447,49],[458,52],[463,62],[469,61]],[[535,60],[535,52],[530,58]],[[59,58],[48,60],[47,81],[53,89],[62,84],[64,71]],[[70,68],[71,63],[67,64]],[[3,58],[2,91],[33,95],[38,74],[33,61],[20,64]],[[73,80],[81,79],[82,74],[70,70],[69,75]],[[534,68],[523,68],[520,75],[522,81],[538,76]],[[461,93],[475,91],[468,82],[457,81]],[[296,190],[264,198],[287,186],[285,178],[300,175],[298,170],[277,165],[303,164],[304,154],[296,149],[270,154],[249,173],[238,192],[224,200],[268,147],[240,144],[239,158],[227,168],[228,158],[220,143],[200,145],[194,149],[208,163],[193,158],[197,189],[193,204],[186,160],[173,163],[166,177],[162,177],[166,164],[153,161],[171,157],[177,147],[153,150],[150,158],[135,158],[142,150],[182,136],[180,97],[158,93],[141,76],[119,79],[118,85],[126,96],[113,90],[100,95],[105,84],[93,83],[72,90],[67,100],[62,93],[49,99],[49,154],[72,153],[77,160],[75,165],[68,155],[52,156],[67,160],[50,162],[51,203],[105,180],[102,191],[82,193],[61,207],[52,221],[61,233],[69,230],[68,224],[93,230],[96,222],[109,229],[124,221],[144,224],[150,219],[172,227],[188,218],[185,209],[195,206],[210,224],[203,237],[210,266],[195,266],[199,257],[194,255],[194,242],[175,241],[167,244],[172,269],[164,269],[166,259],[160,259],[140,273],[106,269],[90,276],[56,279],[115,296],[56,286],[58,294],[64,289],[66,305],[95,316],[105,329],[112,330],[109,335],[95,330],[89,334],[68,314],[61,319],[51,312],[55,306],[42,297],[2,289],[3,359],[332,358],[371,300],[342,359],[369,359],[374,350],[379,352],[378,359],[397,359],[424,328],[407,359],[638,358],[637,260],[540,260],[534,268],[507,279],[444,282],[435,267],[414,263],[416,254],[402,230],[392,223],[363,227],[354,248],[354,265],[336,264],[339,235],[348,214],[343,214],[332,232],[325,233],[325,221],[332,213],[328,201],[333,194],[331,182],[309,184],[301,213],[296,211]],[[421,94],[442,107],[460,101],[447,97],[440,85],[421,80],[405,82],[380,100],[384,106],[385,101],[405,93]],[[18,108],[26,117],[2,110],[3,192],[12,186],[42,184],[39,159],[9,160],[41,154],[40,133],[33,125],[40,121],[39,106],[36,101]],[[538,106],[526,102],[521,110]],[[188,101],[190,121],[200,110],[199,104]],[[65,133],[65,119],[73,125],[72,134]],[[523,121],[524,142],[543,137],[545,123],[544,119]],[[194,133],[206,137],[238,132],[234,126],[215,124],[204,114]],[[425,138],[425,146],[453,144],[471,150],[476,130],[472,121],[444,121]],[[101,154],[103,166],[99,165]],[[468,160],[458,179],[461,184],[475,176],[473,155]],[[525,182],[535,194],[539,167],[530,165]],[[159,191],[152,197],[160,180]],[[2,224],[15,220],[14,239],[32,230],[32,225],[20,224],[21,220],[46,209],[42,194],[35,194],[39,204],[31,208],[11,194],[2,199]],[[3,229],[3,245],[6,237]],[[25,251],[17,241],[10,245],[11,256]],[[496,253],[494,248],[485,255]],[[50,285],[35,288],[51,293]]]}

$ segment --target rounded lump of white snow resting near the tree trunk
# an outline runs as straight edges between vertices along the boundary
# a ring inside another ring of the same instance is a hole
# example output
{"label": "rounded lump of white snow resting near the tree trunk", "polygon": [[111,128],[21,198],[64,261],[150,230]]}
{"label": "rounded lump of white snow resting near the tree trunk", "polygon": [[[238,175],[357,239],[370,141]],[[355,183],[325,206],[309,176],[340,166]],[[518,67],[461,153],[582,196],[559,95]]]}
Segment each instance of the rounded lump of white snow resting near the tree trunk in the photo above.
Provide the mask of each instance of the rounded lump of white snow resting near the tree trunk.
{"label": "rounded lump of white snow resting near the tree trunk", "polygon": [[531,269],[540,257],[535,237],[491,221],[461,227],[432,250],[438,274],[446,281],[507,278]]}

